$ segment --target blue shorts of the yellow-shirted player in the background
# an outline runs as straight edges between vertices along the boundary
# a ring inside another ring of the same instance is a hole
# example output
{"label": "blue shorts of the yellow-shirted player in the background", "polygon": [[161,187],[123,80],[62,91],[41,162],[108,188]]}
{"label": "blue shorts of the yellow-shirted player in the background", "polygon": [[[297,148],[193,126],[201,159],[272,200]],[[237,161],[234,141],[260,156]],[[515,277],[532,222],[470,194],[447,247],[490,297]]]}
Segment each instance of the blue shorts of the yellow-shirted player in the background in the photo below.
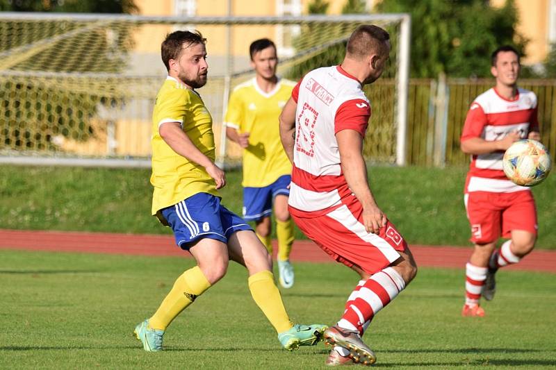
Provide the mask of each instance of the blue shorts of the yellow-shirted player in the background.
{"label": "blue shorts of the yellow-shirted player in the background", "polygon": [[243,218],[247,221],[259,221],[272,213],[272,201],[275,196],[290,195],[288,186],[291,176],[280,176],[274,183],[265,187],[243,188]]}

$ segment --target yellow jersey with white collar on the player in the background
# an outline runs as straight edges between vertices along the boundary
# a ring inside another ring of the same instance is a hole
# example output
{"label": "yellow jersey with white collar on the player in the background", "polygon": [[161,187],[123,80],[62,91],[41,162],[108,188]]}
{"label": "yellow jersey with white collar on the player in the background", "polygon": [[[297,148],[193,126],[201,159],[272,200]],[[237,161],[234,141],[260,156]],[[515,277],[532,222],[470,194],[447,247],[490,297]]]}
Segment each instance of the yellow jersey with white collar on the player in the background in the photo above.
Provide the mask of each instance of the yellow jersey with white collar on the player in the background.
{"label": "yellow jersey with white collar on the player in the background", "polygon": [[232,92],[225,124],[239,133],[250,133],[249,146],[243,150],[243,187],[265,187],[280,176],[291,174],[291,163],[280,140],[278,117],[294,86],[294,82],[280,79],[266,93],[252,78]]}

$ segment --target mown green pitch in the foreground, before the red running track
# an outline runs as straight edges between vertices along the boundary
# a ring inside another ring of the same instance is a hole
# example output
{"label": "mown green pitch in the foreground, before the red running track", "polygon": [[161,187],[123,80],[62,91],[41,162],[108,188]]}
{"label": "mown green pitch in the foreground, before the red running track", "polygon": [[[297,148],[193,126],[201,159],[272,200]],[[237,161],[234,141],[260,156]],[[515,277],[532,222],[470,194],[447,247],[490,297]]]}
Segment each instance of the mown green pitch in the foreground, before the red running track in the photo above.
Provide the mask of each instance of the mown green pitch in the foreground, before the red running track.
{"label": "mown green pitch in the foreground, before the red running track", "polygon": [[[163,353],[131,337],[186,258],[0,251],[0,369],[325,369],[319,344],[289,353],[256,308],[247,274],[227,276],[174,320]],[[283,291],[291,317],[332,324],[357,276],[340,264],[298,263]],[[333,278],[332,278],[333,277]],[[364,339],[377,367],[554,368],[554,275],[499,271],[487,317],[459,315],[463,269],[421,269]]]}

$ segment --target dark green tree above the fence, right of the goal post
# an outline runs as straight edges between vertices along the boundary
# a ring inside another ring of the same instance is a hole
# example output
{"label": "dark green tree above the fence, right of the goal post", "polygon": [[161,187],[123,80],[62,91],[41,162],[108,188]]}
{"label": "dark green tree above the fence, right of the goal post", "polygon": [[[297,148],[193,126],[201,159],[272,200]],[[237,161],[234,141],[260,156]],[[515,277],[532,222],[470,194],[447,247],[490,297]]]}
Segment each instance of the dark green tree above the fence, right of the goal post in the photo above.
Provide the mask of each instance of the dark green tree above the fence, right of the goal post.
{"label": "dark green tree above the fence, right of the goal post", "polygon": [[411,14],[411,74],[435,78],[490,76],[490,55],[502,44],[525,49],[516,32],[513,0],[493,8],[484,0],[384,0],[377,12]]}

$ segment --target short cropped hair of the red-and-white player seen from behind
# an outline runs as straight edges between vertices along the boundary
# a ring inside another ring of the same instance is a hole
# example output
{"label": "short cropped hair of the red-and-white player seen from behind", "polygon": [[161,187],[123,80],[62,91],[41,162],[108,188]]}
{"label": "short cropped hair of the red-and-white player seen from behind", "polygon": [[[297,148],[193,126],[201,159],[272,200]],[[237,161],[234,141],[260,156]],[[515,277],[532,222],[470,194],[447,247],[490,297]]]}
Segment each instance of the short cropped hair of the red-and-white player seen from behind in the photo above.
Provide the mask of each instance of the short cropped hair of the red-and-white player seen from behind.
{"label": "short cropped hair of the red-and-white player seen from behind", "polygon": [[355,59],[361,59],[375,51],[384,53],[386,41],[390,34],[374,24],[361,24],[353,31],[350,40],[347,40],[346,54]]}

